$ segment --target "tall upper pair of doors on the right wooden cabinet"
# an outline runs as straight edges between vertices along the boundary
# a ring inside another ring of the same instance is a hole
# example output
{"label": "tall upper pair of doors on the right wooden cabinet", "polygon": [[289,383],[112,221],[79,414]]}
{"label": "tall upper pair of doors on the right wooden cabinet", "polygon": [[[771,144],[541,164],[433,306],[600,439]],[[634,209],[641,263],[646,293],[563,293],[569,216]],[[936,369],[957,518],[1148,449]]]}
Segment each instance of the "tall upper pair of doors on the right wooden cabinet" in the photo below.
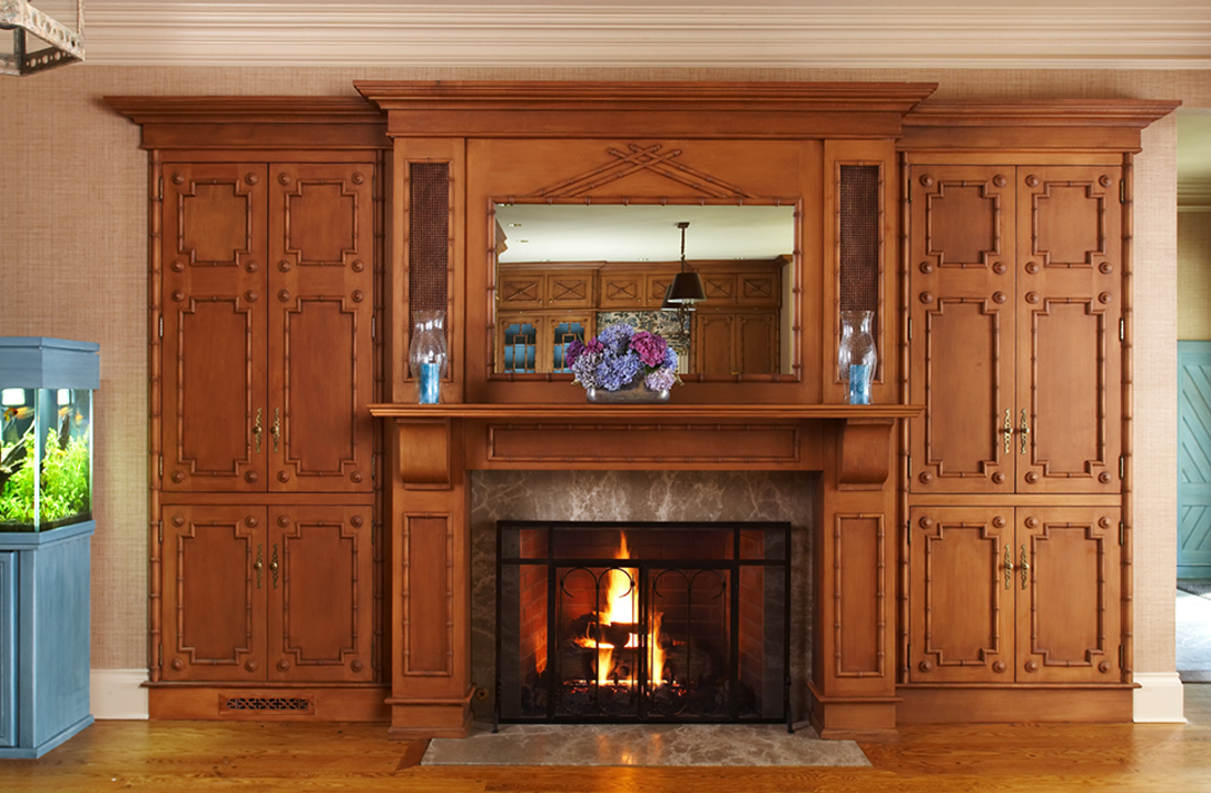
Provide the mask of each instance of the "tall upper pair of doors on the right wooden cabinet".
{"label": "tall upper pair of doors on the right wooden cabinet", "polygon": [[1120,169],[908,172],[913,492],[1120,489]]}

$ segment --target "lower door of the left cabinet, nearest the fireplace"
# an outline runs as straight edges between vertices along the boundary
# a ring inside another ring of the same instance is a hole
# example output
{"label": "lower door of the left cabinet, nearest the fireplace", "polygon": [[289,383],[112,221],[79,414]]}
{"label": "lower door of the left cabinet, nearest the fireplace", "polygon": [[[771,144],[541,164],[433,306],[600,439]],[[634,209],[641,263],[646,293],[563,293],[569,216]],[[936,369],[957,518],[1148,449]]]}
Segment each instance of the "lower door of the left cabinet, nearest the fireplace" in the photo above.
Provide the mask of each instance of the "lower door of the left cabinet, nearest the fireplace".
{"label": "lower door of the left cabinet, nearest the fireplace", "polygon": [[268,534],[269,679],[372,680],[371,508],[275,507]]}

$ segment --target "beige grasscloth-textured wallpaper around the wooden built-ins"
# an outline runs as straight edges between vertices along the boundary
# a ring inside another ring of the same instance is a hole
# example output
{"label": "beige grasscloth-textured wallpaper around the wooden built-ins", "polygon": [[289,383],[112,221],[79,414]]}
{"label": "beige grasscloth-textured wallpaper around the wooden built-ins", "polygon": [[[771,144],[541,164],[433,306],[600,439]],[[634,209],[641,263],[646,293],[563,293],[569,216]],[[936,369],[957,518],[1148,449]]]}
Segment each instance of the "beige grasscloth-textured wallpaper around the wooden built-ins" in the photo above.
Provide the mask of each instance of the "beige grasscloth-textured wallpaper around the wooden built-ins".
{"label": "beige grasscloth-textured wallpaper around the wooden built-ins", "polygon": [[[1177,98],[1206,72],[240,69],[74,65],[0,80],[0,335],[101,343],[94,668],[147,666],[147,155],[105,95],[346,95],[356,79],[937,81],[939,97]],[[1136,169],[1136,669],[1173,669],[1176,126]]]}

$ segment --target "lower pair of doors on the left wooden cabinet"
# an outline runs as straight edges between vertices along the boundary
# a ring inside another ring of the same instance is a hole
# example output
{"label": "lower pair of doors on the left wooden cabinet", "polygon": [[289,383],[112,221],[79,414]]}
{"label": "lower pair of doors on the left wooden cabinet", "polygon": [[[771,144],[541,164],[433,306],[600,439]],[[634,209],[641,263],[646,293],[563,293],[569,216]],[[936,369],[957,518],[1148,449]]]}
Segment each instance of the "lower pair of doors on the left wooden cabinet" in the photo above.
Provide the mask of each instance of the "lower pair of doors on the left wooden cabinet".
{"label": "lower pair of doors on the left wooden cabinet", "polygon": [[368,506],[168,504],[163,679],[373,679]]}

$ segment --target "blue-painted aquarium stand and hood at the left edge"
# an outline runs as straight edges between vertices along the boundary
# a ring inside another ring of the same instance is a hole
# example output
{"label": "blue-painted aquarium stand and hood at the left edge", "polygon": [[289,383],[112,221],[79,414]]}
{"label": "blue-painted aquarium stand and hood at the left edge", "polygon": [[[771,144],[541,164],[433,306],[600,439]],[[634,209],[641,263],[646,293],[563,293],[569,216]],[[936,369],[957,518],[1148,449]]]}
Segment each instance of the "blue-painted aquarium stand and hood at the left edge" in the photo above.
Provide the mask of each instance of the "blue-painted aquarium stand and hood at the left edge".
{"label": "blue-painted aquarium stand and hood at the left edge", "polygon": [[[75,403],[59,405],[56,394],[76,399],[82,392],[80,404],[85,394],[91,403],[99,381],[97,344],[0,337],[0,389],[6,389],[6,398],[30,395],[29,407],[6,410],[6,428],[29,415],[25,421],[39,422],[34,423],[39,444],[56,416],[61,426],[64,416],[75,418],[64,435],[91,424],[87,407],[78,412]],[[88,433],[85,443],[91,446],[91,427]],[[5,463],[8,478],[16,464]],[[11,520],[0,525],[0,759],[39,758],[93,721],[88,709],[90,550],[96,527],[91,449],[88,468],[87,504],[78,514],[29,526]]]}

